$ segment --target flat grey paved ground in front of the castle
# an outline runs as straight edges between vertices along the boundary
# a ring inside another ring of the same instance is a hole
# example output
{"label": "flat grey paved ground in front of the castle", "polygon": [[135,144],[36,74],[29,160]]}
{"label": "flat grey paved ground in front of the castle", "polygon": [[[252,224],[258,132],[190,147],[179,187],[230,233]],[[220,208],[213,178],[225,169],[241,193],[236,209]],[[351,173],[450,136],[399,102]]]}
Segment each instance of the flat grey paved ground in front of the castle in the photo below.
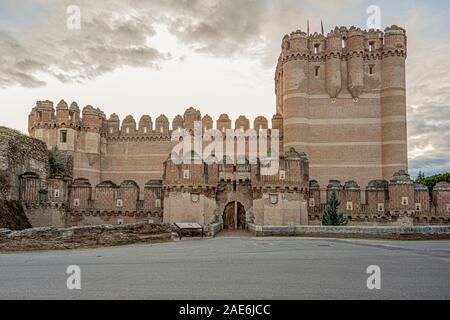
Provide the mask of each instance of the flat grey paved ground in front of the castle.
{"label": "flat grey paved ground in front of the castle", "polygon": [[[81,267],[80,291],[66,268]],[[382,288],[369,291],[369,265]],[[0,254],[0,299],[450,299],[450,241],[220,237]]]}

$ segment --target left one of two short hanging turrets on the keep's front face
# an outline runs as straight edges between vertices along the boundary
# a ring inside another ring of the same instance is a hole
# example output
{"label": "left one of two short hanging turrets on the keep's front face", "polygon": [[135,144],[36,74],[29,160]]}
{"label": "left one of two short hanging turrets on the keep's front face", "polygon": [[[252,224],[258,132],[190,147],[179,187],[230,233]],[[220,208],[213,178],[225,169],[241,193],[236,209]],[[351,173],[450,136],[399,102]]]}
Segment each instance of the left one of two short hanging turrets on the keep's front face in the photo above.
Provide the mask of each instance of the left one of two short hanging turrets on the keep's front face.
{"label": "left one of two short hanging turrets on the keep's front face", "polygon": [[337,27],[328,34],[326,46],[326,89],[330,98],[336,99],[342,90],[342,35]]}

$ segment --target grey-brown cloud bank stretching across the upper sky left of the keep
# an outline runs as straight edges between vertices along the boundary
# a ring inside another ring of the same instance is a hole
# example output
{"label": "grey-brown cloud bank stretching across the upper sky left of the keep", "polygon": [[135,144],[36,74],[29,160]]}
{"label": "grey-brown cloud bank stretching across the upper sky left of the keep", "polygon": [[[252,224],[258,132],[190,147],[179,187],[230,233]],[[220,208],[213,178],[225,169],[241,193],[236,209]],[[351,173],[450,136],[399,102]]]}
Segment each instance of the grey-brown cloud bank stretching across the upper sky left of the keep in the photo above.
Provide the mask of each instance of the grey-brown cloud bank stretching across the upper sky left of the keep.
{"label": "grey-brown cloud bank stretching across the upper sky left of the keep", "polygon": [[[312,15],[313,0],[110,0],[108,2],[4,0],[8,27],[0,24],[0,88],[45,85],[46,75],[83,82],[122,67],[158,69],[171,59],[148,45],[155,26],[180,44],[214,57],[244,55],[273,67],[282,35]],[[339,2],[354,3],[355,0]],[[69,5],[81,9],[81,30],[66,28]],[[321,2],[335,14],[336,2]],[[27,9],[33,8],[33,12]],[[317,9],[317,8],[316,8]],[[14,21],[16,24],[14,24]],[[28,21],[24,24],[24,21]],[[12,24],[11,24],[12,23]],[[304,24],[304,23],[303,23]]]}

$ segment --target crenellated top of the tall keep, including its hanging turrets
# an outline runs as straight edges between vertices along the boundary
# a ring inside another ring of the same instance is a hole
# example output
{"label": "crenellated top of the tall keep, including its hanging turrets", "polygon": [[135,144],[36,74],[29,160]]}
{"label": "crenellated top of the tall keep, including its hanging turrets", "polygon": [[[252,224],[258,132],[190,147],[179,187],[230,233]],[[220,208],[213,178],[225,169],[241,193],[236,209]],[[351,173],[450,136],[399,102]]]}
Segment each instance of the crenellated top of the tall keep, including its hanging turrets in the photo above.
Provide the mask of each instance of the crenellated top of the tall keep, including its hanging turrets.
{"label": "crenellated top of the tall keep, including its hanging turrets", "polygon": [[[354,26],[349,29],[335,27],[326,36],[318,33],[307,35],[297,30],[283,38],[275,74],[276,93],[282,95],[286,88],[291,87],[292,77],[288,75],[291,79],[286,79],[286,71],[289,70],[285,65],[298,61],[305,73],[313,71],[313,75],[309,75],[310,81],[325,78],[325,90],[330,98],[336,99],[343,89],[347,89],[354,99],[358,99],[374,86],[367,74],[377,78],[377,74],[382,72],[376,61],[390,56],[406,58],[406,54],[406,31],[395,25],[384,32],[361,30]],[[311,67],[307,68],[301,61]],[[346,68],[342,67],[343,64]],[[344,75],[342,71],[345,70],[347,74]],[[282,111],[283,100],[277,99],[277,104],[277,111]]]}

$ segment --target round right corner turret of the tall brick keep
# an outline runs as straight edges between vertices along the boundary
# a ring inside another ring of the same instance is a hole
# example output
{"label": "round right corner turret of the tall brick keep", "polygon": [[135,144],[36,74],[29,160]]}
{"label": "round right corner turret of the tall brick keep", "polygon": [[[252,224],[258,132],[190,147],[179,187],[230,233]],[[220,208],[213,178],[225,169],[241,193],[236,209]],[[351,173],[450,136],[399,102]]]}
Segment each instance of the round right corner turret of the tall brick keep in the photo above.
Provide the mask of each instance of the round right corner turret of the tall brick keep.
{"label": "round right corner turret of the tall brick keep", "polygon": [[381,64],[382,156],[386,180],[397,171],[408,170],[406,55],[406,31],[395,25],[386,28]]}

